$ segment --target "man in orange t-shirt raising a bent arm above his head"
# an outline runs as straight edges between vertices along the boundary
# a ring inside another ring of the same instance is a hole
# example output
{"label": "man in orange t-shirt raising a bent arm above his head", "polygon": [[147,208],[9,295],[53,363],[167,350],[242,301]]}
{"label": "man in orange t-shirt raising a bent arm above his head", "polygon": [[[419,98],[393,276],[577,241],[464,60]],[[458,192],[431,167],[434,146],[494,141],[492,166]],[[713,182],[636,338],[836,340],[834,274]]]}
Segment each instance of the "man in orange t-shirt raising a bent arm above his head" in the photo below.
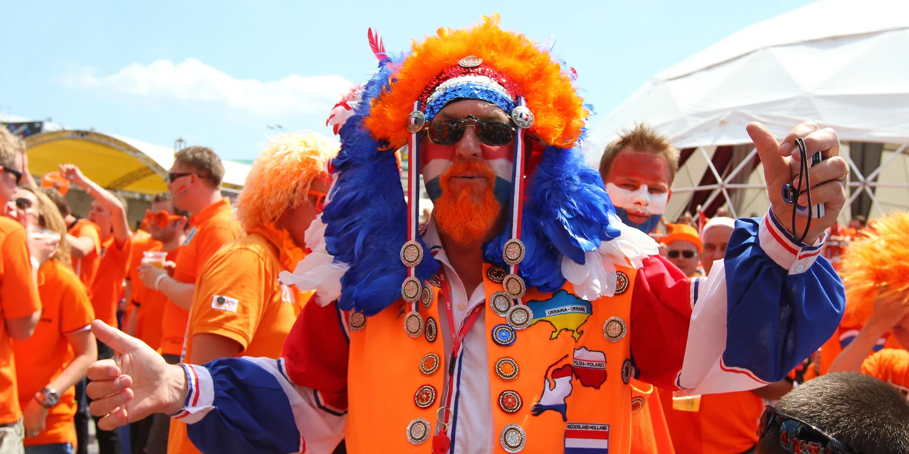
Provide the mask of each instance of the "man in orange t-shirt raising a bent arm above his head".
{"label": "man in orange t-shirt raising a bent arm above his head", "polygon": [[[101,230],[102,241],[98,272],[90,287],[92,307],[95,310],[96,319],[116,328],[118,326],[117,301],[120,299],[120,291],[133,251],[133,233],[129,230],[129,223],[126,220],[126,202],[86,178],[73,164],[61,164],[60,173],[94,199],[88,219],[95,222]],[[97,346],[99,360],[114,357],[114,350],[103,342],[98,341]],[[119,432],[98,429],[98,419],[95,418],[95,438],[98,440],[100,453],[120,454]],[[88,443],[88,428],[84,421],[85,419],[82,419],[81,415],[75,421],[80,452],[83,452]]]}

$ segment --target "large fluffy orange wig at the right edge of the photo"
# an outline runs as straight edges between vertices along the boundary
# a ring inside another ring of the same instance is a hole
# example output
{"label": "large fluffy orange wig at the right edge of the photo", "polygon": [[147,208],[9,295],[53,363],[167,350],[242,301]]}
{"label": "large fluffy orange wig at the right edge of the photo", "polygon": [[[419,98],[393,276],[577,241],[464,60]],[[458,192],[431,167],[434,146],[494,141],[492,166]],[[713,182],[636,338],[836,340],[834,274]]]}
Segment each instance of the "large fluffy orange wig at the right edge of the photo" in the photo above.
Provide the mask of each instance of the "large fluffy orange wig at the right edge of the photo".
{"label": "large fluffy orange wig at the right edge of the photo", "polygon": [[887,291],[909,291],[909,212],[897,212],[874,222],[849,243],[840,259],[846,288],[844,321],[864,324],[874,312],[882,284]]}

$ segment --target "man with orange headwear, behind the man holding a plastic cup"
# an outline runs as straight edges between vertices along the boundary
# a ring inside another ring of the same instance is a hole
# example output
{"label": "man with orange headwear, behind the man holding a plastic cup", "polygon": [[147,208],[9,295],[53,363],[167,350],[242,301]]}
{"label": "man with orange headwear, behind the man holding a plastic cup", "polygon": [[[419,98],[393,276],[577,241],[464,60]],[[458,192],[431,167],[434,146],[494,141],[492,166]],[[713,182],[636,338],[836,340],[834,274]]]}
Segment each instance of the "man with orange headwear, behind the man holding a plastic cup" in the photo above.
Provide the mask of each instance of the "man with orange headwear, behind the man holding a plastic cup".
{"label": "man with orange headwear, behind the man holding a plastic cup", "polygon": [[[148,252],[166,252],[165,263],[176,261],[180,245],[186,239],[186,227],[189,224],[189,214],[187,212],[174,208],[173,196],[170,192],[163,192],[155,195],[152,201],[152,209],[145,212],[145,220],[148,223],[150,232],[151,247]],[[134,249],[135,253],[135,249]],[[138,252],[142,257],[142,252]],[[135,262],[135,257],[134,261]],[[140,259],[140,262],[141,259]],[[139,278],[139,264],[131,266],[131,294],[132,301],[130,304],[129,318],[126,323],[128,334],[133,335],[155,350],[162,350],[162,328],[168,321],[165,321],[165,306],[171,306],[172,310],[181,311],[171,301],[167,300],[164,293],[156,291],[154,288],[148,288]],[[185,321],[178,321],[175,325],[185,325]],[[168,339],[168,352],[173,357],[179,358],[179,350],[183,344],[183,334],[175,339],[175,334],[170,335]],[[176,345],[179,343],[179,345]],[[154,425],[154,415],[130,424],[130,448],[134,453],[146,452],[145,448],[149,442],[152,427]],[[166,435],[166,432],[164,433]],[[166,438],[158,440],[158,443],[166,445]]]}

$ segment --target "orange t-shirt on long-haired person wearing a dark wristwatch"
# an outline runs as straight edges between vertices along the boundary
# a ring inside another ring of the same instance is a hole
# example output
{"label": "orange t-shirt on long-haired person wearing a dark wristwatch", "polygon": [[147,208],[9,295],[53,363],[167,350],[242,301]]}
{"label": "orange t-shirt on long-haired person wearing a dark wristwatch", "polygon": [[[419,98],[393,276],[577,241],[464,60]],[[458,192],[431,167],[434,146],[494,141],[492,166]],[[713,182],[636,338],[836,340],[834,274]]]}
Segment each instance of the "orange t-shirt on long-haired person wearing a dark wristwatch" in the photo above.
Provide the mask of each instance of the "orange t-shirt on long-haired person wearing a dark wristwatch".
{"label": "orange t-shirt on long-haired person wearing a dark wristwatch", "polygon": [[[89,323],[95,320],[85,284],[64,264],[45,262],[38,270],[38,283],[44,305],[41,321],[32,337],[13,341],[19,405],[23,408],[73,360],[66,334],[88,330]],[[56,391],[60,393],[60,403],[48,410],[41,434],[25,439],[26,446],[67,442],[75,445],[75,388]]]}

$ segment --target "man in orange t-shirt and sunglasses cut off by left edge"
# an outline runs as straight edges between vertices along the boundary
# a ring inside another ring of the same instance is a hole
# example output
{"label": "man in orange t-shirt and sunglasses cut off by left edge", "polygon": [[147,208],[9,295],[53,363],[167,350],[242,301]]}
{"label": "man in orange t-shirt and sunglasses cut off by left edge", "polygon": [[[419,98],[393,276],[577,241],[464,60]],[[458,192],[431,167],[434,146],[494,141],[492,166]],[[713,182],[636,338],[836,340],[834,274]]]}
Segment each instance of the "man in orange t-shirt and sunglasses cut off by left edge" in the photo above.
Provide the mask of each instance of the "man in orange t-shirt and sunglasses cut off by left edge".
{"label": "man in orange t-shirt and sunglasses cut off by left edge", "polygon": [[[0,203],[6,206],[22,178],[22,141],[0,127]],[[41,316],[41,300],[36,285],[39,262],[46,261],[53,248],[33,248],[44,252],[41,258],[29,256],[25,228],[0,216],[0,453],[22,452],[22,410],[13,361],[13,339],[24,341],[35,331]],[[43,260],[42,260],[43,259]]]}

